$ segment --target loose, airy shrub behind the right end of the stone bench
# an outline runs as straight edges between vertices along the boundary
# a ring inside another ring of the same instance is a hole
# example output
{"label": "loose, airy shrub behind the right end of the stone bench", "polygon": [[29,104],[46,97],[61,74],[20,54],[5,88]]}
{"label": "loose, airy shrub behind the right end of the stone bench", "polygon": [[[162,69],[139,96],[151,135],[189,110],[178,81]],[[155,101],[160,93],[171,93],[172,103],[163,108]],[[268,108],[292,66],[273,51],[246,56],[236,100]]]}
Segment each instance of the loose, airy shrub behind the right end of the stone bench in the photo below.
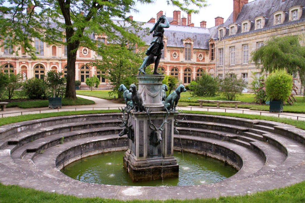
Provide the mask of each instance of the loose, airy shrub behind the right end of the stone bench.
{"label": "loose, airy shrub behind the right end of the stone bench", "polygon": [[247,87],[247,82],[242,78],[238,79],[235,73],[227,72],[220,82],[220,87],[221,94],[229,101],[233,101],[242,94],[242,90]]}

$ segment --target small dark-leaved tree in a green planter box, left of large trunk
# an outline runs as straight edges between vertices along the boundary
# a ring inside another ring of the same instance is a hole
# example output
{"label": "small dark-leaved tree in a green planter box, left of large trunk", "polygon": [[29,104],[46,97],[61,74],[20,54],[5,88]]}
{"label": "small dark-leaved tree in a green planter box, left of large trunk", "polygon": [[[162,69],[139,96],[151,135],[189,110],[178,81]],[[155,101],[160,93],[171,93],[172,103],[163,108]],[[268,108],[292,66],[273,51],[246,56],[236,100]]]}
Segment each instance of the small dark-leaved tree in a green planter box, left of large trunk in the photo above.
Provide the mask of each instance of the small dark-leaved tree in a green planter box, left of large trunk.
{"label": "small dark-leaved tree in a green planter box, left of large trunk", "polygon": [[65,84],[66,79],[62,77],[62,72],[56,72],[55,70],[48,71],[45,81],[49,88],[52,89],[53,97],[49,97],[49,108],[60,107],[61,108],[61,97],[55,97],[55,90]]}

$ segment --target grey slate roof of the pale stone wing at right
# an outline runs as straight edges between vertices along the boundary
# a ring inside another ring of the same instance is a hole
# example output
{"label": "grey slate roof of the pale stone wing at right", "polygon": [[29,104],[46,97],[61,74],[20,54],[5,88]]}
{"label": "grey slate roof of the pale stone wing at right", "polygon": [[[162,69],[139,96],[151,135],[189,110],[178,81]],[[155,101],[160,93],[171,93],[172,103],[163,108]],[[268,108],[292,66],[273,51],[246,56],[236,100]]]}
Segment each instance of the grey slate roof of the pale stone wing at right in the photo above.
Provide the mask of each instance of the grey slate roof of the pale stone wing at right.
{"label": "grey slate roof of the pale stone wing at right", "polygon": [[[305,0],[286,0],[285,2],[282,2],[282,0],[255,0],[253,2],[249,2],[245,5],[243,5],[239,15],[237,16],[237,19],[235,22],[233,22],[233,12],[229,16],[229,18],[221,25],[217,26],[223,26],[228,28],[228,26],[231,23],[236,23],[238,25],[241,25],[241,22],[243,20],[250,20],[251,22],[251,28],[249,31],[253,31],[255,26],[254,26],[254,18],[258,16],[264,16],[267,19],[265,19],[265,26],[264,28],[274,26],[273,25],[273,20],[274,16],[273,13],[276,11],[285,11],[285,21],[284,23],[289,22],[289,8],[292,6],[296,5],[302,5],[303,7],[305,6]],[[303,13],[301,16],[301,19],[305,19],[305,12],[303,9]],[[279,24],[277,26],[284,26],[283,24]],[[241,33],[241,26],[238,26],[238,30],[236,34]],[[217,30],[214,31],[214,33],[211,33],[212,38],[218,38],[218,33]],[[226,35],[228,36],[228,29],[226,29]],[[234,35],[233,35],[234,36]]]}

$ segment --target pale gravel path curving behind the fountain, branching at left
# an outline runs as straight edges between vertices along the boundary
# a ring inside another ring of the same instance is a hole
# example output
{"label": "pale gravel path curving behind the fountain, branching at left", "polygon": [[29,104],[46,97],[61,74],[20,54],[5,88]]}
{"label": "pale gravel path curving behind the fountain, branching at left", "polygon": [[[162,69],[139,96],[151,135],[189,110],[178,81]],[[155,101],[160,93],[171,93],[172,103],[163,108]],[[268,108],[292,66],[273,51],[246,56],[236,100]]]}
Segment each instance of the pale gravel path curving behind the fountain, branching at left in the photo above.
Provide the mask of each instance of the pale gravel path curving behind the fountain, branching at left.
{"label": "pale gravel path curving behind the fountain, branching at left", "polygon": [[[105,109],[118,109],[118,107],[124,107],[124,103],[114,103],[111,100],[100,99],[92,96],[77,95],[77,97],[82,97],[84,99],[92,100],[95,104],[90,105],[74,105],[65,106],[58,109],[49,109],[48,107],[42,108],[30,108],[21,109],[19,107],[7,108],[5,111],[0,111],[0,117],[17,116],[25,114],[37,114],[37,113],[48,113],[48,112],[59,112],[59,111],[77,111],[77,110],[105,110]],[[263,116],[275,116],[275,117],[285,117],[305,121],[305,114],[294,114],[294,113],[269,113],[268,111],[253,111],[249,109],[235,109],[235,108],[220,108],[216,107],[179,107],[182,110],[192,110],[192,111],[213,111],[213,112],[227,112],[227,113],[243,113],[243,114],[256,114]]]}

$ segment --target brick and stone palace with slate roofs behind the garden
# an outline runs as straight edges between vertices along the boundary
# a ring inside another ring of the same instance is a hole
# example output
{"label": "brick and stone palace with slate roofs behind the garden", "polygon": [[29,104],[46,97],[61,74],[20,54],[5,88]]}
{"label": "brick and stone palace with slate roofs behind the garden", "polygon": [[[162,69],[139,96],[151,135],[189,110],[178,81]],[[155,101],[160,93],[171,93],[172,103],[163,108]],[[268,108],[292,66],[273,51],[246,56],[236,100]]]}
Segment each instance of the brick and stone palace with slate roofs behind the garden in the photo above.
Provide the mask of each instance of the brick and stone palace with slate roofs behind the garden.
{"label": "brick and stone palace with slate roofs behind the garden", "polygon": [[[231,1],[232,14],[225,22],[224,18],[216,17],[215,26],[211,28],[206,28],[204,20],[200,22],[200,27],[195,27],[192,16],[188,14],[187,18],[181,17],[181,11],[175,10],[173,17],[167,17],[170,28],[164,32],[164,49],[159,64],[161,72],[177,77],[184,85],[203,72],[212,77],[223,77],[227,72],[233,72],[251,82],[252,72],[256,76],[260,74],[260,69],[250,62],[252,51],[273,36],[305,34],[304,0]],[[158,12],[156,19],[162,15],[162,11]],[[151,18],[143,27],[152,28],[156,19]],[[92,37],[109,44],[107,36]],[[147,46],[151,39],[151,35],[143,38]],[[24,72],[27,78],[42,78],[49,70],[66,74],[66,46],[33,40],[39,53],[36,60],[31,60],[22,50],[18,56],[12,54],[16,47],[1,48],[0,65],[4,72],[9,72],[9,69],[15,74]],[[304,40],[300,43],[305,46]],[[95,51],[80,47],[77,51],[75,79],[80,80],[81,86],[85,87],[85,79],[97,75],[101,82],[99,89],[110,89],[103,73],[88,65],[95,61],[95,56]]]}

